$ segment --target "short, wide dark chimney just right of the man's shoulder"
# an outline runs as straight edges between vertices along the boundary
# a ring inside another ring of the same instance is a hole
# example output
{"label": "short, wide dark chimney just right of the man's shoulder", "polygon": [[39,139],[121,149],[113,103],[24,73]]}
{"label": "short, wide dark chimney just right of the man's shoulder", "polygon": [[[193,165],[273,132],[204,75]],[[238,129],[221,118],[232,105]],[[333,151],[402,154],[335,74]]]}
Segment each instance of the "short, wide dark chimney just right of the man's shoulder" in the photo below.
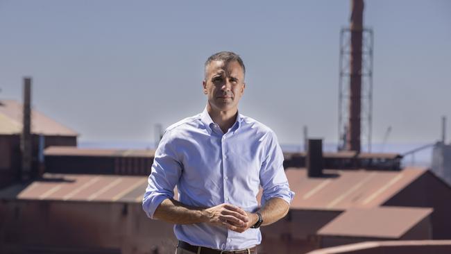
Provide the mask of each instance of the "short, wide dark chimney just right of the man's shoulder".
{"label": "short, wide dark chimney just right of the man's shoulder", "polygon": [[323,139],[309,139],[305,164],[309,177],[323,176]]}

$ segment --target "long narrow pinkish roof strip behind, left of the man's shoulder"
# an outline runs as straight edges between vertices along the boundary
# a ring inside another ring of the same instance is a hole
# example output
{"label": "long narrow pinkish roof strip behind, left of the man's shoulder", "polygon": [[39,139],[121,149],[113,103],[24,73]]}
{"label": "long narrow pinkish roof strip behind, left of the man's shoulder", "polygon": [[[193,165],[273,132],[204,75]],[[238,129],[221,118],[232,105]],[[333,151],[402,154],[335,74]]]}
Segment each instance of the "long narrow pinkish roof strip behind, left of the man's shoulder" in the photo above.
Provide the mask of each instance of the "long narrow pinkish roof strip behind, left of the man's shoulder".
{"label": "long narrow pinkish roof strip behind, left of the man's shoulder", "polygon": [[49,146],[44,150],[44,155],[153,158],[155,156],[155,151],[135,149],[80,149],[74,146]]}

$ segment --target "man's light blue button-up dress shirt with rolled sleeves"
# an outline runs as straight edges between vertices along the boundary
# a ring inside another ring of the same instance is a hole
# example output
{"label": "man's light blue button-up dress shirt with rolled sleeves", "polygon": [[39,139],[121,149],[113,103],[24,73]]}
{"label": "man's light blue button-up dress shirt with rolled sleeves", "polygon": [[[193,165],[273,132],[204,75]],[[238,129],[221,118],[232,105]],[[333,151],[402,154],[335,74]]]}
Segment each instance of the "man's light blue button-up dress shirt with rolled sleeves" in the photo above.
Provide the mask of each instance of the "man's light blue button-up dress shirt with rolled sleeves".
{"label": "man's light blue button-up dress shirt with rolled sleeves", "polygon": [[[290,203],[294,193],[282,162],[282,150],[270,128],[238,114],[224,134],[205,109],[165,131],[155,151],[142,207],[153,218],[158,205],[173,198],[176,186],[178,200],[196,207],[230,203],[254,212],[260,186],[262,205],[274,197]],[[174,232],[181,241],[220,250],[250,248],[262,240],[259,228],[239,233],[208,223],[176,225]]]}

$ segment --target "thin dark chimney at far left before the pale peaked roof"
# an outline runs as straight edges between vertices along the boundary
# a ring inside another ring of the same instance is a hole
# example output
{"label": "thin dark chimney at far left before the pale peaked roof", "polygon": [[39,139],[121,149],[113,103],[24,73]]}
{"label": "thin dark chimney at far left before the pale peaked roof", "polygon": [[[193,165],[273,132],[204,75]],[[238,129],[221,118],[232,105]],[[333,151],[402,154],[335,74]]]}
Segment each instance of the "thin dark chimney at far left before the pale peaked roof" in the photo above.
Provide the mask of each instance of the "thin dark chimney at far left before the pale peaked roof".
{"label": "thin dark chimney at far left before the pale peaked roof", "polygon": [[31,78],[24,78],[24,105],[22,119],[22,135],[20,137],[20,149],[22,152],[21,180],[27,181],[31,178]]}

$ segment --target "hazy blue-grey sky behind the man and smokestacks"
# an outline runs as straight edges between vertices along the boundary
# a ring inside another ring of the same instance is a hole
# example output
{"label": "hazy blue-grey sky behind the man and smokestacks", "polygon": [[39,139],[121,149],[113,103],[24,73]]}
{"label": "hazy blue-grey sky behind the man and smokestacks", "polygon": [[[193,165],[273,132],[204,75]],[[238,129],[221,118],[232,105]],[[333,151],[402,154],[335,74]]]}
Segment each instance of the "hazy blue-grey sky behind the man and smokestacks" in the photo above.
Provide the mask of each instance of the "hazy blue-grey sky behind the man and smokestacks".
{"label": "hazy blue-grey sky behind the man and smokestacks", "polygon": [[[21,99],[81,141],[146,142],[205,107],[203,62],[246,65],[244,115],[280,142],[337,142],[339,31],[350,1],[0,0],[0,99]],[[450,119],[451,1],[366,1],[373,28],[373,140],[433,142]]]}

